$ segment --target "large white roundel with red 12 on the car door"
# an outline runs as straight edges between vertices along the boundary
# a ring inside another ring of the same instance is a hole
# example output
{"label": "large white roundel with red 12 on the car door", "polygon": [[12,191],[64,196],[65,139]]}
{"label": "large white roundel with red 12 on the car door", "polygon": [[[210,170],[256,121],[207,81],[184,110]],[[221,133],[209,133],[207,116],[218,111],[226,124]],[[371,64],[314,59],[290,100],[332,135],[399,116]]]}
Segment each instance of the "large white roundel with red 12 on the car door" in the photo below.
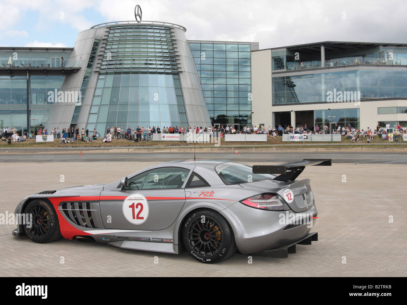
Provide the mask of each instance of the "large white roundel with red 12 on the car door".
{"label": "large white roundel with red 12 on the car door", "polygon": [[131,194],[123,202],[123,214],[126,219],[140,225],[147,220],[149,216],[149,203],[142,194]]}

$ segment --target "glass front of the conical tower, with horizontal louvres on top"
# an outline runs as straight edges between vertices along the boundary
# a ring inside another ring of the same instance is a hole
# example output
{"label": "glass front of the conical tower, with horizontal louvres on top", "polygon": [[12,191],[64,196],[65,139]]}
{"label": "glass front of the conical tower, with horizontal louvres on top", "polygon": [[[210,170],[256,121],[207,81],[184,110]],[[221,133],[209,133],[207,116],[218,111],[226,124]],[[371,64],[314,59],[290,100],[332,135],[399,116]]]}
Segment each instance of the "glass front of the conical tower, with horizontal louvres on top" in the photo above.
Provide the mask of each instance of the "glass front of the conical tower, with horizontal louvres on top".
{"label": "glass front of the conical tower, with horizontal louvres on top", "polygon": [[170,27],[110,27],[87,128],[187,128],[177,70]]}

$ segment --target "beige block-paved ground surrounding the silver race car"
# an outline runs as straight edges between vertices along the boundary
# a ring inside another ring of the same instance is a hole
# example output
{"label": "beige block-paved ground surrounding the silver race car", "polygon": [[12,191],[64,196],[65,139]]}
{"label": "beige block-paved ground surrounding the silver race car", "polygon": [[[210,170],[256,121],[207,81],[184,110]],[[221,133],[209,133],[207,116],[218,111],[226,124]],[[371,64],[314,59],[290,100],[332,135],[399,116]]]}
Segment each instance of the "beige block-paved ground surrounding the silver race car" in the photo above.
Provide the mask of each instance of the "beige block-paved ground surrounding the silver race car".
{"label": "beige block-paved ground surrounding the silver race car", "polygon": [[[75,158],[1,164],[0,213],[14,212],[31,193],[111,182],[156,164],[145,161],[147,154],[140,162],[79,163]],[[319,217],[311,232],[318,232],[319,241],[297,245],[297,253],[288,258],[253,256],[249,264],[247,255],[235,254],[222,263],[204,265],[187,253],[123,250],[65,239],[37,244],[12,236],[15,225],[2,224],[0,276],[405,276],[406,169],[387,164],[307,167],[300,178],[311,178]]]}

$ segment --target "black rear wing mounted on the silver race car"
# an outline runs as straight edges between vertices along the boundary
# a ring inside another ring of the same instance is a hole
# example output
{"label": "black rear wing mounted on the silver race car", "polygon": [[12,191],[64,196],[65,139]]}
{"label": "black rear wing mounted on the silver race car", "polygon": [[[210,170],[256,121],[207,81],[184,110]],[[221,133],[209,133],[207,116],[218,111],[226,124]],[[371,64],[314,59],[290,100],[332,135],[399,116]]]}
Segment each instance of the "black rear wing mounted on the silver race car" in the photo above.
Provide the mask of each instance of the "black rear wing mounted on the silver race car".
{"label": "black rear wing mounted on the silver race car", "polygon": [[294,181],[304,170],[305,166],[331,166],[332,159],[303,159],[298,162],[289,162],[277,165],[254,165],[253,174],[280,174],[273,180]]}

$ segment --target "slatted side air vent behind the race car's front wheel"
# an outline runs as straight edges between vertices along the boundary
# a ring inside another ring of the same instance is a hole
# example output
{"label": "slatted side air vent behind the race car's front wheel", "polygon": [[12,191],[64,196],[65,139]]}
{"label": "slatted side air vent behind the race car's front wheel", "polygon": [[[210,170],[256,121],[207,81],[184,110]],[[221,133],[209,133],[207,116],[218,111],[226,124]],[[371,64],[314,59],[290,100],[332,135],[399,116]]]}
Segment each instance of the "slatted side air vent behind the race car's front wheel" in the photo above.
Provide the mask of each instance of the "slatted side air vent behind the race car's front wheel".
{"label": "slatted side air vent behind the race car's front wheel", "polygon": [[93,205],[91,208],[90,202],[64,202],[59,210],[62,210],[63,214],[76,225],[84,228],[97,228],[93,216],[98,210],[94,209]]}

